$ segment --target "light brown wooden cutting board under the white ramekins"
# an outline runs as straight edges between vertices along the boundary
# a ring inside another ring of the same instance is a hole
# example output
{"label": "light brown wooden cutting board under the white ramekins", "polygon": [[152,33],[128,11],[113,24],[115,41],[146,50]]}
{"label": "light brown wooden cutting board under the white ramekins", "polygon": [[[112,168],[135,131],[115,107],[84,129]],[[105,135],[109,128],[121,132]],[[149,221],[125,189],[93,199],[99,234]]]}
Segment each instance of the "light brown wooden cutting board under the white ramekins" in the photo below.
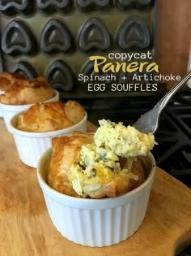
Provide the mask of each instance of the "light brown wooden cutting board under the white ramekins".
{"label": "light brown wooden cutting board under the white ramekins", "polygon": [[[87,128],[95,130],[92,124]],[[36,170],[19,160],[0,119],[0,256],[172,256],[186,243],[191,243],[191,191],[158,167],[146,217],[134,236],[104,248],[66,240],[49,218]]]}

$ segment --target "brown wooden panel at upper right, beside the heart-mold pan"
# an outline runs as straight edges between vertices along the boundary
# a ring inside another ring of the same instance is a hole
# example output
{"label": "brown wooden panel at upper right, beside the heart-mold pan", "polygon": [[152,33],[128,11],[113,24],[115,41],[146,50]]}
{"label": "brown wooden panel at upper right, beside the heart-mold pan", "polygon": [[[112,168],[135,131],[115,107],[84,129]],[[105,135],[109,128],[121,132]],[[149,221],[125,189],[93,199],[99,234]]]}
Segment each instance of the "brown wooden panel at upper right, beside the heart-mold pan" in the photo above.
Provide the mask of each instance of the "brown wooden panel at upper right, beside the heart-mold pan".
{"label": "brown wooden panel at upper right, beside the heart-mold pan", "polygon": [[[156,15],[156,61],[163,76],[185,76],[191,46],[191,1],[159,0]],[[167,81],[168,89],[176,81]]]}

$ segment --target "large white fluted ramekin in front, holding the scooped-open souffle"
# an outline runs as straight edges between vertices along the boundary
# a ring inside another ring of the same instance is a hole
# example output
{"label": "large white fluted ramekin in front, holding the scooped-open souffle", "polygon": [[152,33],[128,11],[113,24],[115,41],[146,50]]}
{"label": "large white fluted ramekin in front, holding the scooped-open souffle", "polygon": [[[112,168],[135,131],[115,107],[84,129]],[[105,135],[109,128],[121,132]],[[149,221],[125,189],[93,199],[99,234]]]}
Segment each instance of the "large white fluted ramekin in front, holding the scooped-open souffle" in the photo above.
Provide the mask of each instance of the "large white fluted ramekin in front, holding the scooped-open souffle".
{"label": "large white fluted ramekin in front, holding the scooped-open souffle", "polygon": [[87,199],[58,193],[47,184],[52,149],[40,158],[37,177],[53,225],[70,241],[80,245],[102,247],[124,241],[142,224],[155,176],[155,158],[142,158],[148,176],[137,189],[120,197]]}

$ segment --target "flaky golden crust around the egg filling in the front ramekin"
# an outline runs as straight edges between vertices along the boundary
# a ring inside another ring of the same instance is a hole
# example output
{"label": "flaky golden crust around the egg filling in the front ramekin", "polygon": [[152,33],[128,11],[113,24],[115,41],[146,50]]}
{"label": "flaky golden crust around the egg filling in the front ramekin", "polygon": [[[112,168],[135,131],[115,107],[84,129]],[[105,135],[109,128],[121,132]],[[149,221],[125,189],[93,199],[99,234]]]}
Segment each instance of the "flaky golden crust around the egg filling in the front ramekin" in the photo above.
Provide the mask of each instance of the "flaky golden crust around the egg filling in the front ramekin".
{"label": "flaky golden crust around the egg filling in the front ramekin", "polygon": [[[53,156],[49,166],[48,181],[49,185],[61,193],[66,195],[79,197],[72,189],[67,178],[67,173],[73,163],[76,163],[79,151],[82,145],[92,142],[92,137],[83,134],[82,132],[73,133],[70,137],[53,138]],[[122,159],[121,165],[125,163]],[[87,197],[102,198],[102,197],[117,197],[124,193],[137,188],[146,180],[145,167],[141,158],[137,158],[132,165],[131,170],[138,180],[134,178],[123,178],[116,176],[112,181],[103,180],[101,184],[86,184],[83,187]]]}

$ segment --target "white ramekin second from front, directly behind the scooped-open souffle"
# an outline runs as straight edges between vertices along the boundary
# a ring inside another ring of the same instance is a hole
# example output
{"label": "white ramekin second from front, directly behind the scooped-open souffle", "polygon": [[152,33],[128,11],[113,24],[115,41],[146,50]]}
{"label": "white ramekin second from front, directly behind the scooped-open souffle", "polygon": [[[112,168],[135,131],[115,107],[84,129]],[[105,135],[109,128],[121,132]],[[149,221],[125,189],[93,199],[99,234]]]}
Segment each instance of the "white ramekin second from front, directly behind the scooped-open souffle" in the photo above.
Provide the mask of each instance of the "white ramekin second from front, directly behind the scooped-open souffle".
{"label": "white ramekin second from front, directly behind the scooped-open souffle", "polygon": [[19,158],[29,167],[37,167],[40,156],[52,145],[53,137],[70,134],[73,131],[87,132],[86,112],[78,124],[53,132],[24,132],[15,128],[19,114],[11,118],[10,129],[15,140]]}

